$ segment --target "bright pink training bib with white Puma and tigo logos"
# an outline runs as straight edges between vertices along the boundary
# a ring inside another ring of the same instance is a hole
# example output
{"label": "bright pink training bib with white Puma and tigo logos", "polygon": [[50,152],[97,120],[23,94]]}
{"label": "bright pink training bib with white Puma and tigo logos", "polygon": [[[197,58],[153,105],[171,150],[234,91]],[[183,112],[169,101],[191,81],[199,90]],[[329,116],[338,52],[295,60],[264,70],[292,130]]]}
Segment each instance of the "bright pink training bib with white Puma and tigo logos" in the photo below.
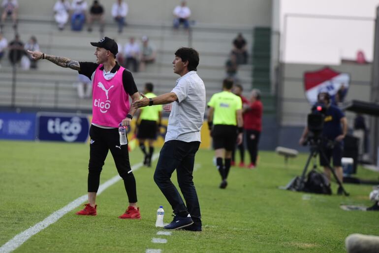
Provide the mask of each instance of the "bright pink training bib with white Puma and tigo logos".
{"label": "bright pink training bib with white Puma and tigo logos", "polygon": [[129,94],[124,90],[123,72],[125,68],[120,67],[115,76],[107,80],[100,70],[100,64],[94,74],[92,89],[92,123],[118,127],[129,112]]}

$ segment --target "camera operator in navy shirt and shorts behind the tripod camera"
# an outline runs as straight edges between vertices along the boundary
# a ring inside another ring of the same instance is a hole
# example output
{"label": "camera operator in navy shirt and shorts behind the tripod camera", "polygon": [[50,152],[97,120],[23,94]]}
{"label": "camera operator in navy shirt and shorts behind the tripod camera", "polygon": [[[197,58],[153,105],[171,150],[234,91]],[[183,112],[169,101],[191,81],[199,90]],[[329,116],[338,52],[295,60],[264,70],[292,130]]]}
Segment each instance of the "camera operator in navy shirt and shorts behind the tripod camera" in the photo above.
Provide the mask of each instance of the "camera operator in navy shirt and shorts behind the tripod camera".
{"label": "camera operator in navy shirt and shorts behind the tripod camera", "polygon": [[[333,158],[334,171],[341,183],[343,182],[342,170],[342,153],[343,153],[343,140],[347,134],[347,119],[342,110],[331,104],[330,96],[327,92],[320,92],[317,96],[317,102],[325,106],[324,124],[322,128],[322,141],[321,150],[325,154],[320,156],[320,165],[324,167],[324,173],[330,181],[330,160]],[[299,140],[299,144],[303,145],[307,142],[308,126],[305,127],[303,134]],[[337,194],[343,194],[342,187],[338,187]]]}

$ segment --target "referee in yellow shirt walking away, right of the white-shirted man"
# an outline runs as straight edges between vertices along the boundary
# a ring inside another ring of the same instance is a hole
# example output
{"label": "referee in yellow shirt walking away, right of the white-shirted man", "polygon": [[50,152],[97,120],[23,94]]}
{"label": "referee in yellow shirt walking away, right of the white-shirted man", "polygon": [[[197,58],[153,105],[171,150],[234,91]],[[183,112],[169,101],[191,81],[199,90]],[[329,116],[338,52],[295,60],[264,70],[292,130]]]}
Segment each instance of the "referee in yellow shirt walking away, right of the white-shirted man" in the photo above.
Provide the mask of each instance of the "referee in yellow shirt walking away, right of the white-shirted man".
{"label": "referee in yellow shirt walking away, right of the white-shirted man", "polygon": [[231,92],[232,87],[233,80],[224,79],[222,91],[214,94],[208,102],[208,127],[213,137],[217,168],[221,175],[221,189],[227,185],[234,146],[236,142],[238,145],[242,143],[242,101]]}

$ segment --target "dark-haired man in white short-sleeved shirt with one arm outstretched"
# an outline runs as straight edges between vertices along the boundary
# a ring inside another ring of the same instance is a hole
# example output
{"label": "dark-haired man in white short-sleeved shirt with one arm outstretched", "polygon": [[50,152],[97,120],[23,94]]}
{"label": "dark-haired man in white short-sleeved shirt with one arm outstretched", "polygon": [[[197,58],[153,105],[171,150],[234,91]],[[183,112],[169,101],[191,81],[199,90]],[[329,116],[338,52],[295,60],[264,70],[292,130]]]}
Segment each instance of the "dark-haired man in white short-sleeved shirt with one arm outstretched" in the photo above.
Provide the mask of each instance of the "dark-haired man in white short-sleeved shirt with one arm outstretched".
{"label": "dark-haired man in white short-sleeved shirt with one arm outstretched", "polygon": [[[196,72],[199,54],[192,48],[179,48],[175,52],[172,64],[174,73],[181,76],[174,89],[150,99],[141,94],[143,98],[134,102],[133,106],[140,108],[172,103],[163,107],[165,111],[170,111],[170,117],[154,173],[154,181],[175,214],[173,221],[164,228],[201,231],[200,205],[192,181],[195,154],[201,142],[200,129],[205,112],[205,86]],[[187,207],[170,180],[175,169]]]}

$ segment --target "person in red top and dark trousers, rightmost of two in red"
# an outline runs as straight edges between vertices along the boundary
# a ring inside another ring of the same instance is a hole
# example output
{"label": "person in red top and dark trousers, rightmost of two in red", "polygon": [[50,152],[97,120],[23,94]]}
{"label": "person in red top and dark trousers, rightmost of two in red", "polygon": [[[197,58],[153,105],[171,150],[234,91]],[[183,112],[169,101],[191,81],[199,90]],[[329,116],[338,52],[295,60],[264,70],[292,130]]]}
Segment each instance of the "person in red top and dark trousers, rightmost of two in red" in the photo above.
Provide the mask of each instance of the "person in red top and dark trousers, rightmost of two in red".
{"label": "person in red top and dark trousers, rightmost of two in red", "polygon": [[262,131],[263,105],[260,102],[260,96],[260,91],[253,89],[250,105],[244,107],[244,129],[251,159],[251,163],[248,166],[249,169],[254,169],[256,166],[259,137]]}

